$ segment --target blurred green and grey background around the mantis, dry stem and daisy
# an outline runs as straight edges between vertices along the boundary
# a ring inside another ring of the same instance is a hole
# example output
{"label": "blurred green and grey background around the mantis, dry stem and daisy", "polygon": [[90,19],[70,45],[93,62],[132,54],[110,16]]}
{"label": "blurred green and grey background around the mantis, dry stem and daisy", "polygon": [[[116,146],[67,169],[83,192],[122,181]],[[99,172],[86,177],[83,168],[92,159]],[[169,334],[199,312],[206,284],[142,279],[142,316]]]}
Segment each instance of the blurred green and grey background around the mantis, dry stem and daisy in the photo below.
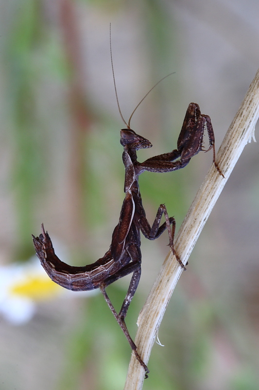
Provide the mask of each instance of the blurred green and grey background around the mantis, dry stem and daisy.
{"label": "blurred green and grey background around the mantis, dry stem and daisy", "polygon": [[[108,250],[123,200],[121,111],[153,143],[139,161],[176,147],[191,101],[211,117],[216,149],[259,67],[256,0],[0,0],[0,264],[25,264],[44,222],[66,260]],[[256,137],[257,137],[256,131]],[[165,203],[180,226],[212,161],[144,173],[153,222]],[[220,162],[219,162],[220,165]],[[143,389],[259,388],[259,149],[246,146],[183,273],[159,330]],[[168,252],[142,239],[138,312]],[[57,254],[58,248],[56,248]],[[37,261],[37,260],[35,260]],[[1,271],[0,271],[1,272]],[[107,289],[120,308],[129,277]],[[0,316],[1,390],[123,389],[130,347],[99,292],[36,303],[22,324]]]}

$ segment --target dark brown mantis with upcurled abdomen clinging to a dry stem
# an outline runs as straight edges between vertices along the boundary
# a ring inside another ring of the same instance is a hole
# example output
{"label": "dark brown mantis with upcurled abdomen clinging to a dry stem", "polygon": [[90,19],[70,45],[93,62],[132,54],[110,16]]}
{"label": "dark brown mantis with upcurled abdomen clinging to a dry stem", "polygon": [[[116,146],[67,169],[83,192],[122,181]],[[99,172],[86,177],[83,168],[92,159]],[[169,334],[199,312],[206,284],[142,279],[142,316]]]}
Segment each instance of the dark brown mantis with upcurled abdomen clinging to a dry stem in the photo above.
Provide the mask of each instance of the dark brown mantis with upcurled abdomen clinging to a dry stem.
{"label": "dark brown mantis with upcurled abdomen clinging to a dry stem", "polygon": [[[121,114],[116,86],[115,92]],[[148,158],[142,163],[137,160],[137,150],[150,148],[152,147],[152,144],[148,139],[139,136],[130,128],[130,119],[129,122],[126,123],[122,117],[122,120],[127,126],[126,129],[121,130],[121,145],[124,149],[122,161],[125,167],[125,198],[121,207],[119,223],[112,234],[112,242],[109,250],[102,258],[92,264],[84,267],[74,267],[62,262],[56,256],[52,247],[51,238],[48,232],[45,232],[43,224],[41,225],[41,234],[39,237],[33,235],[33,241],[41,265],[55,283],[72,291],[88,291],[100,288],[109,308],[113,312],[134,351],[136,358],[145,370],[145,377],[147,377],[149,370],[139,356],[137,346],[132,340],[125,324],[125,317],[131,300],[137,290],[141,274],[140,231],[149,240],[155,240],[167,230],[170,248],[179,265],[184,270],[186,270],[186,268],[173,246],[175,219],[169,217],[165,205],[160,204],[153,225],[150,226],[142,205],[138,186],[138,176],[144,171],[162,173],[184,168],[190,162],[191,157],[195,156],[201,150],[204,150],[202,145],[205,130],[207,130],[209,138],[209,148],[207,151],[210,149],[213,150],[214,165],[219,174],[222,176],[223,174],[215,161],[215,138],[210,118],[207,115],[201,115],[198,104],[190,103],[188,106],[183,126],[178,137],[177,149],[174,149],[169,153]],[[162,215],[165,216],[165,222],[159,226]],[[122,303],[121,310],[117,313],[105,288],[109,284],[130,273],[133,273],[130,285]]]}

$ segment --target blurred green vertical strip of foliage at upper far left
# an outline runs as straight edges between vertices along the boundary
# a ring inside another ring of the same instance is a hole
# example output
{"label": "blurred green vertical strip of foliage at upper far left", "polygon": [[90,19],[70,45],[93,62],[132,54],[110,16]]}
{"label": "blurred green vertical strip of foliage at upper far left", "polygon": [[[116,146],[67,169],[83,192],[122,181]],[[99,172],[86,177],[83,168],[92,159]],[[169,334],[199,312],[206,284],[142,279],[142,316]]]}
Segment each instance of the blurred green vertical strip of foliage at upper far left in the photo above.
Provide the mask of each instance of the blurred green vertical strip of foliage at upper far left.
{"label": "blurred green vertical strip of foliage at upper far left", "polygon": [[[33,226],[35,190],[40,190],[43,156],[42,136],[38,131],[37,78],[35,56],[42,45],[42,21],[39,3],[24,1],[17,7],[9,26],[6,46],[7,91],[13,128],[15,158],[13,180],[17,201],[17,225],[20,259],[31,253],[29,237]],[[41,188],[42,189],[42,188]]]}

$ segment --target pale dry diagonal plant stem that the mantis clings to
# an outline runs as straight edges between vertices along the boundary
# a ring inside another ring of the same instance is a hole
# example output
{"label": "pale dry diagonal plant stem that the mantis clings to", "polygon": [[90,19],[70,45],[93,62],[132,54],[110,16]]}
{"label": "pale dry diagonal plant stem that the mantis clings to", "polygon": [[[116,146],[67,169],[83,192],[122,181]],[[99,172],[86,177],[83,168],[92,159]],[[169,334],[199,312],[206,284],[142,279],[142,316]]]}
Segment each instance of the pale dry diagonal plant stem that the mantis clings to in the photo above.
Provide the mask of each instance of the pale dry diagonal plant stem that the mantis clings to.
{"label": "pale dry diagonal plant stem that the mantis clings to", "polygon": [[[252,138],[255,141],[254,131],[258,117],[259,70],[216,156],[216,161],[225,178],[219,175],[214,164],[212,164],[175,239],[174,248],[184,264],[188,261],[195,242],[239,159],[243,148],[247,142],[251,142]],[[146,364],[148,363],[164,312],[182,271],[183,269],[177,263],[172,252],[170,252],[139,314],[135,344],[138,346],[138,353]],[[152,375],[152,372],[150,375]],[[124,390],[142,389],[143,379],[144,370],[133,353]]]}

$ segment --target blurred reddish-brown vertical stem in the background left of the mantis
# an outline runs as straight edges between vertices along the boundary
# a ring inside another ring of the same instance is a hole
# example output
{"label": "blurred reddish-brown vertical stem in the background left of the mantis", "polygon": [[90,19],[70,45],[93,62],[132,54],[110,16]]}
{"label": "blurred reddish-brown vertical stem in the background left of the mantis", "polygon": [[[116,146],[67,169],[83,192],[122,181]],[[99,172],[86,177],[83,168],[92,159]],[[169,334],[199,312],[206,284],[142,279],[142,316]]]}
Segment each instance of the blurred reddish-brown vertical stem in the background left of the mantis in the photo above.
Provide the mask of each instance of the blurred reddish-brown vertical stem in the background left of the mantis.
{"label": "blurred reddish-brown vertical stem in the background left of the mantis", "polygon": [[83,72],[80,53],[80,36],[75,12],[76,2],[60,0],[60,22],[63,33],[66,60],[69,66],[68,104],[70,122],[69,156],[69,198],[68,219],[70,243],[76,246],[85,239],[85,218],[82,211],[87,202],[84,181],[87,175],[86,133],[89,131],[90,116],[86,103],[87,83]]}

